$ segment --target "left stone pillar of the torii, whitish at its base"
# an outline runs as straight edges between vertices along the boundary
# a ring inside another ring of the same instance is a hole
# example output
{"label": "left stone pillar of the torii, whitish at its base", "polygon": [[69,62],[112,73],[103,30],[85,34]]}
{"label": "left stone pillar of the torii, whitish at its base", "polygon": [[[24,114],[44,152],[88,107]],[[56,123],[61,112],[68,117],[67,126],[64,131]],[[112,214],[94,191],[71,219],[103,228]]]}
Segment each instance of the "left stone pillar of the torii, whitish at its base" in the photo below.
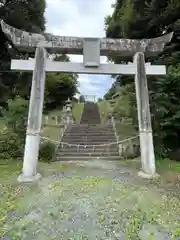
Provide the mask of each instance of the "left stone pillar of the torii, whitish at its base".
{"label": "left stone pillar of the torii, whitish at its base", "polygon": [[32,78],[23,170],[22,174],[18,177],[19,182],[33,182],[41,177],[41,175],[37,173],[37,163],[44,103],[46,59],[47,52],[45,48],[38,46],[36,48]]}

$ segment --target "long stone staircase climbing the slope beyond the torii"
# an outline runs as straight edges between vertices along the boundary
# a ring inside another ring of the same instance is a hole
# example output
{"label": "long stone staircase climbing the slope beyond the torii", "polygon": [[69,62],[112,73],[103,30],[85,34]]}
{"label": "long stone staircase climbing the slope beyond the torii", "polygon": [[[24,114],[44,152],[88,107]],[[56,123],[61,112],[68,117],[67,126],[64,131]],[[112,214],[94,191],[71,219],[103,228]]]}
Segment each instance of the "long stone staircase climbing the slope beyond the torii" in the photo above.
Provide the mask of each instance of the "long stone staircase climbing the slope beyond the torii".
{"label": "long stone staircase climbing the slope beyond the torii", "polygon": [[116,143],[113,126],[101,124],[99,109],[95,103],[85,104],[80,124],[70,124],[62,142],[65,144],[60,144],[57,160],[119,157],[118,145],[107,145]]}

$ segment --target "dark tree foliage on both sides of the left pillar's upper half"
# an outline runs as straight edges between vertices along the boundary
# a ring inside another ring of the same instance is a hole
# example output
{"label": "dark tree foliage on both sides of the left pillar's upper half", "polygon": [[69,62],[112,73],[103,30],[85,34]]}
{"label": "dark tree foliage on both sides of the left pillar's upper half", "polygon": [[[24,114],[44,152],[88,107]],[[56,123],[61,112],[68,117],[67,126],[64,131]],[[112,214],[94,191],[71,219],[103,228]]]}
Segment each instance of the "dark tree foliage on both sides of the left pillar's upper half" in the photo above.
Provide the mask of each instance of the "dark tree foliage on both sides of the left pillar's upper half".
{"label": "dark tree foliage on both sides of the left pillar's upper half", "polygon": [[[6,23],[28,32],[45,31],[45,0],[4,0],[0,3],[0,16]],[[0,29],[0,106],[6,107],[9,99],[16,95],[29,100],[32,73],[10,72],[10,59],[33,57],[19,52],[4,36]],[[70,61],[66,55],[54,55],[55,61]],[[53,110],[62,106],[68,97],[77,92],[77,75],[47,74],[45,108]]]}

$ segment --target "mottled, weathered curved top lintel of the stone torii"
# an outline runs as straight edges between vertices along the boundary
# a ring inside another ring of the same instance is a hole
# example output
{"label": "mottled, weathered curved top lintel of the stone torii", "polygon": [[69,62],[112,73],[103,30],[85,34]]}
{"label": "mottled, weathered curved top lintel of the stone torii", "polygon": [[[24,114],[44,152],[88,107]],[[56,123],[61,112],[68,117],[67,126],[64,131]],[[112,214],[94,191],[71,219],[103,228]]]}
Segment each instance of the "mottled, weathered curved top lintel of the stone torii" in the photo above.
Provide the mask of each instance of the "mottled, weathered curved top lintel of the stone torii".
{"label": "mottled, weathered curved top lintel of the stone torii", "polygon": [[[84,38],[63,37],[52,34],[34,34],[16,29],[1,21],[2,31],[8,39],[22,51],[34,51],[38,43],[52,53],[82,54]],[[173,33],[152,39],[100,39],[100,54],[112,53],[121,56],[132,56],[136,52],[146,53],[146,56],[156,55],[163,51],[164,45],[171,41]]]}

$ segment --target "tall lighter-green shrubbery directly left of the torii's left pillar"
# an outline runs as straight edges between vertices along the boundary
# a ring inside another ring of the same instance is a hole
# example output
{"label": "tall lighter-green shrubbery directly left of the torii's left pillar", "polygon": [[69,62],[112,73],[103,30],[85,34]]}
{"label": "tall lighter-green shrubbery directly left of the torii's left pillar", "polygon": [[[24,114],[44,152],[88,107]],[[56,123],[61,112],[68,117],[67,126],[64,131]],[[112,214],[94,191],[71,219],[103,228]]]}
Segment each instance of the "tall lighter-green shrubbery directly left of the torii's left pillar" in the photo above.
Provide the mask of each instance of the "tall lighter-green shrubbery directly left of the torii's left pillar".
{"label": "tall lighter-green shrubbery directly left of the torii's left pillar", "polygon": [[28,101],[9,100],[4,113],[6,129],[0,133],[0,160],[22,159],[27,123]]}

